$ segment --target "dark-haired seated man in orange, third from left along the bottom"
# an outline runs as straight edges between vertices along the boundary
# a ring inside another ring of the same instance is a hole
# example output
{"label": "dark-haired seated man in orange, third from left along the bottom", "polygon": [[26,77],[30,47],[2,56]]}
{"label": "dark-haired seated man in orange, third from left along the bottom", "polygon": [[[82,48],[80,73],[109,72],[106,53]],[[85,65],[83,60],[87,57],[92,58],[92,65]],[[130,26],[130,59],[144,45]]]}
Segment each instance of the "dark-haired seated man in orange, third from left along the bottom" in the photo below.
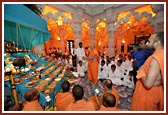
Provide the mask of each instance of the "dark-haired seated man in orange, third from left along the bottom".
{"label": "dark-haired seated man in orange, third from left along the bottom", "polygon": [[83,99],[84,90],[80,85],[73,87],[72,94],[74,101],[65,108],[66,111],[95,111],[93,104]]}

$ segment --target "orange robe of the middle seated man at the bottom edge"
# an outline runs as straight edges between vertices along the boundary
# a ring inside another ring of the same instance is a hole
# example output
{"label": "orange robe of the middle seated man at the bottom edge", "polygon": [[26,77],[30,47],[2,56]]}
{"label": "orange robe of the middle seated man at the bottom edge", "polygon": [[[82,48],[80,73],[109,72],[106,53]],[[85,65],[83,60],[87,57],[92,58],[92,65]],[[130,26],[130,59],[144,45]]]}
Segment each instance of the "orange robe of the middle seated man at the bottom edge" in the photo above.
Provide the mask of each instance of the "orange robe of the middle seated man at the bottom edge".
{"label": "orange robe of the middle seated man at the bottom edge", "polygon": [[95,111],[93,104],[91,102],[86,102],[84,99],[77,102],[71,102],[65,111]]}

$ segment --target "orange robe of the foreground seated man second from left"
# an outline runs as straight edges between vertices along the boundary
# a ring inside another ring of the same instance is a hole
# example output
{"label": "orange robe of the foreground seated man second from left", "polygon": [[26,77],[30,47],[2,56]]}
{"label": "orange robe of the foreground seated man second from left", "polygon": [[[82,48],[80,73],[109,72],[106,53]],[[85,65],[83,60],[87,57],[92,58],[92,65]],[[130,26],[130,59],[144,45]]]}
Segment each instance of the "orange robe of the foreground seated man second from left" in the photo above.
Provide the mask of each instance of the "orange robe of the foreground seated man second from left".
{"label": "orange robe of the foreground seated man second from left", "polygon": [[58,93],[56,95],[56,108],[58,111],[64,111],[65,108],[73,101],[73,96],[70,92]]}

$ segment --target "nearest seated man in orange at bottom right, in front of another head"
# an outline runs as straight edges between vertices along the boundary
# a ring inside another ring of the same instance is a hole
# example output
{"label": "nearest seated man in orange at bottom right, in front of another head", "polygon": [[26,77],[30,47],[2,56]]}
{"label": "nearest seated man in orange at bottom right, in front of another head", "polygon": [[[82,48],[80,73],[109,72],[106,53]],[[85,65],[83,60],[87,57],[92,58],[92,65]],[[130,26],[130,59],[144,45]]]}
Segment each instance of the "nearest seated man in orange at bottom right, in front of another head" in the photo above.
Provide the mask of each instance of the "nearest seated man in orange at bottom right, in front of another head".
{"label": "nearest seated man in orange at bottom right, in front of another head", "polygon": [[103,94],[103,102],[99,111],[123,111],[116,107],[116,98],[113,94],[106,92]]}

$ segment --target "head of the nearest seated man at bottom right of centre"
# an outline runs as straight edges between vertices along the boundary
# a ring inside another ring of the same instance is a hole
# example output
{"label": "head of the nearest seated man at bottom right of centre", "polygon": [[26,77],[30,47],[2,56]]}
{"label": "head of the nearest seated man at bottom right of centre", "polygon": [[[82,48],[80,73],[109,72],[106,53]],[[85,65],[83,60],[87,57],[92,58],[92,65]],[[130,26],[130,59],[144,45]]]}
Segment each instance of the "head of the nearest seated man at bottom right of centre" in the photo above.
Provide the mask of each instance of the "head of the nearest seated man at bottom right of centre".
{"label": "head of the nearest seated man at bottom right of centre", "polygon": [[103,95],[103,105],[105,107],[114,107],[116,104],[116,98],[113,94],[106,92]]}

